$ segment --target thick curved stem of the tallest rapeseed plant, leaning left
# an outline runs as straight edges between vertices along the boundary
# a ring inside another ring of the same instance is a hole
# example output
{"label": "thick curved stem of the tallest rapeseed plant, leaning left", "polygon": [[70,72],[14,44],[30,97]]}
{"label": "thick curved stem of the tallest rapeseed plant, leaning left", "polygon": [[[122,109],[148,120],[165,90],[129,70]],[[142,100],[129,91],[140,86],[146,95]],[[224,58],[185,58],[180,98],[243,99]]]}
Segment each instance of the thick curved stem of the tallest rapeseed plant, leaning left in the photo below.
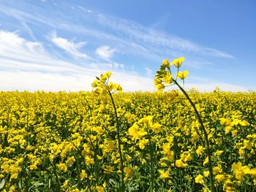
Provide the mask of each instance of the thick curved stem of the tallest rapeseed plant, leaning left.
{"label": "thick curved stem of the tallest rapeseed plant, leaning left", "polygon": [[[173,78],[172,78],[173,79]],[[197,119],[199,120],[200,126],[202,128],[204,137],[206,139],[206,152],[207,152],[207,156],[208,156],[208,169],[210,172],[210,183],[211,183],[211,192],[214,192],[214,173],[212,170],[212,163],[211,163],[211,149],[210,149],[210,144],[208,141],[208,134],[206,132],[206,128],[203,125],[203,120],[201,119],[199,112],[197,111],[197,108],[195,107],[195,104],[193,103],[193,101],[190,99],[189,95],[187,94],[186,91],[184,91],[184,88],[181,88],[181,85],[178,84],[178,82],[176,80],[173,79],[173,82],[178,86],[178,88],[181,90],[182,93],[184,93],[184,95],[187,97],[187,99],[189,100],[189,103],[192,105],[193,109],[195,110],[195,115],[197,116]]]}

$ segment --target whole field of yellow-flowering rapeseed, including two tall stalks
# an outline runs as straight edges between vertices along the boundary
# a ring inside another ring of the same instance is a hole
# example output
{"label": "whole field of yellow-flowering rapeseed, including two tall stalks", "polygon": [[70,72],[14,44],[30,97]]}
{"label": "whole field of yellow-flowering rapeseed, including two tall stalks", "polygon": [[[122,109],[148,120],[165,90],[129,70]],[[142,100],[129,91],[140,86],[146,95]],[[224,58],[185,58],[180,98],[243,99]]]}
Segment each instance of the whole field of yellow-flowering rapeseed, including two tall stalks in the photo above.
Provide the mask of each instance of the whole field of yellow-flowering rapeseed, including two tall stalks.
{"label": "whole field of yellow-flowering rapeseed, including two tall stalks", "polygon": [[183,61],[154,93],[0,92],[0,191],[256,191],[256,93],[184,91]]}

